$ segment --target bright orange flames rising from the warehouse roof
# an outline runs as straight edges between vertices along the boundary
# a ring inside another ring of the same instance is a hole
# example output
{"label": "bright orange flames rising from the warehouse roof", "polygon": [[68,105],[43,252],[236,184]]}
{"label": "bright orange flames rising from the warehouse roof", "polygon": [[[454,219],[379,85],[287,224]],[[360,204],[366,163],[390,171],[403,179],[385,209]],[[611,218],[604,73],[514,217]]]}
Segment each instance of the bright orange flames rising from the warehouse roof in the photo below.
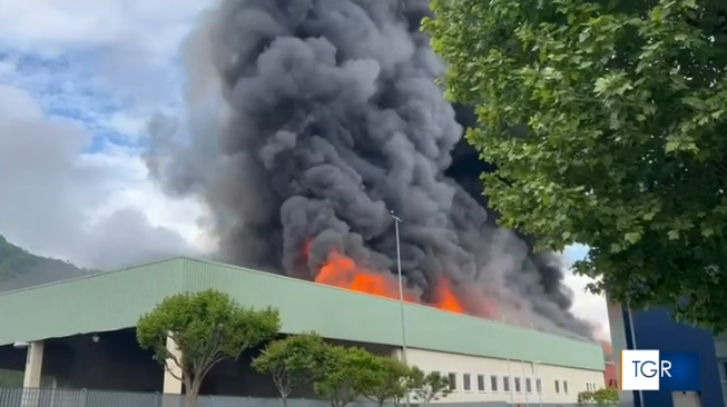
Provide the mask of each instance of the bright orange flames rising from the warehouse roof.
{"label": "bright orange flames rising from the warehouse roof", "polygon": [[[305,246],[307,254],[308,244]],[[353,291],[364,292],[372,296],[399,299],[399,281],[390,274],[376,272],[356,265],[356,262],[337,250],[332,250],[323,264],[315,282],[325,284]],[[421,302],[416,295],[404,291],[404,300],[407,302]],[[456,314],[473,314],[487,316],[488,310],[469,312],[462,300],[452,290],[451,281],[441,277],[434,292],[434,302],[425,304],[441,310]]]}

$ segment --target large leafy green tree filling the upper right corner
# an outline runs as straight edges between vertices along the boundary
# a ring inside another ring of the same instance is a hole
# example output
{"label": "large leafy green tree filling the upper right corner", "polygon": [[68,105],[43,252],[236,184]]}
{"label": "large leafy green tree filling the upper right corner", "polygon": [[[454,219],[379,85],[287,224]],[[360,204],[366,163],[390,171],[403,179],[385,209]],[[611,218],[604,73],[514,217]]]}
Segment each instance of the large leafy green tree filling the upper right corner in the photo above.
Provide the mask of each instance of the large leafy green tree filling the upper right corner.
{"label": "large leafy green tree filling the upper right corner", "polygon": [[727,17],[719,0],[433,0],[424,22],[507,227],[616,300],[727,327]]}

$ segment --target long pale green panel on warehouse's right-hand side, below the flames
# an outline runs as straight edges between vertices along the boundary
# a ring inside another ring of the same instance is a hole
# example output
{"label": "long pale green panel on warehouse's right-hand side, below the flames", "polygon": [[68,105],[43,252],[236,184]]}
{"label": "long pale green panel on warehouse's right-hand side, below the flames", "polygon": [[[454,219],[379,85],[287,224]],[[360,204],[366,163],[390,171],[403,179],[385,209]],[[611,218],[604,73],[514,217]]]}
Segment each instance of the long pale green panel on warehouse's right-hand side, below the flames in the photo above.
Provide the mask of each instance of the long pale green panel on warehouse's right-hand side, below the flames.
{"label": "long pale green panel on warehouse's right-hand side, below the flames", "polygon": [[[227,265],[189,260],[185,268],[189,290],[215,288],[245,306],[279,308],[285,332],[401,344],[399,301]],[[406,305],[405,316],[412,348],[603,370],[602,349],[593,343],[419,305]]]}

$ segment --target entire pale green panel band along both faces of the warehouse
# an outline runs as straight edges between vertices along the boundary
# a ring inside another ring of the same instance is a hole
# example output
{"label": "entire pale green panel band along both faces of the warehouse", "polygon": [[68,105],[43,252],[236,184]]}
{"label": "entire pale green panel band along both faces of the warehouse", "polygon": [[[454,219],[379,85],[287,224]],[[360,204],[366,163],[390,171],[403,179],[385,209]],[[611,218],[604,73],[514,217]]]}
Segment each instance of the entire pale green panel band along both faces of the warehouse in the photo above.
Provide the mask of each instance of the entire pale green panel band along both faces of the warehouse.
{"label": "entire pale green panel band along both faces of the warehouse", "polygon": [[[310,281],[174,259],[0,295],[0,345],[132,327],[164,297],[217,289],[247,307],[279,308],[283,331],[401,344],[401,304]],[[598,344],[406,305],[412,348],[603,370]]]}

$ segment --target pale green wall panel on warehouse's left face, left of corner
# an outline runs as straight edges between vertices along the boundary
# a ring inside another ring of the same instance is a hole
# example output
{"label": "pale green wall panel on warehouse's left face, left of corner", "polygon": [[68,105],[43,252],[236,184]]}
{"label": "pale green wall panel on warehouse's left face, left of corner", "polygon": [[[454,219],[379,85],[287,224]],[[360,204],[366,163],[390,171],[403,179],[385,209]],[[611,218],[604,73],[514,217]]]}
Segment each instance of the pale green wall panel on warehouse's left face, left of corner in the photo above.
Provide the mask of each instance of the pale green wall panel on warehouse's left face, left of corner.
{"label": "pale green wall panel on warehouse's left face, left of corner", "polygon": [[181,289],[184,261],[0,294],[0,345],[134,326],[139,315]]}

